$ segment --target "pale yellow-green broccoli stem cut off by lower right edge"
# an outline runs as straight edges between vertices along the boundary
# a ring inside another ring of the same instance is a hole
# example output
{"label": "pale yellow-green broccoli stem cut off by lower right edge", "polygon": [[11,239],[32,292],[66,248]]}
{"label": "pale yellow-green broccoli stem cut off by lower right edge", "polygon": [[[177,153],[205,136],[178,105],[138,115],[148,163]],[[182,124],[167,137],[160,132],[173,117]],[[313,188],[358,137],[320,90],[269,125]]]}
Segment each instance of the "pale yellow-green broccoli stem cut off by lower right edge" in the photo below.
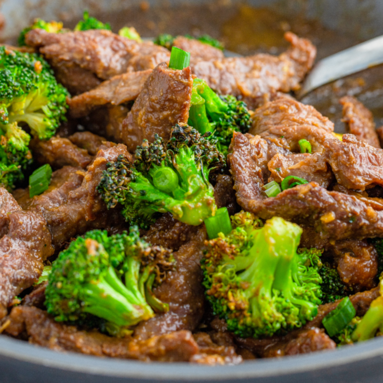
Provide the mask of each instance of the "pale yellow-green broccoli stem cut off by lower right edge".
{"label": "pale yellow-green broccoli stem cut off by lower right edge", "polygon": [[353,342],[367,341],[375,337],[383,325],[383,297],[375,299],[352,334]]}

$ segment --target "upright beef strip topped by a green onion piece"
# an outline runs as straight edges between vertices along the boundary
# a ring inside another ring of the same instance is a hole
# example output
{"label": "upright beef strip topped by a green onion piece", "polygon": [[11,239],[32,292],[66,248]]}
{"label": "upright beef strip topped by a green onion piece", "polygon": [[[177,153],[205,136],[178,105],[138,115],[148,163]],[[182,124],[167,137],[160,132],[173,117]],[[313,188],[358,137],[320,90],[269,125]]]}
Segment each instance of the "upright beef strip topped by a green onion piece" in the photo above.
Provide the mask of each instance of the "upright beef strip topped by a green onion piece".
{"label": "upright beef strip topped by a green onion piece", "polygon": [[153,142],[156,133],[169,140],[175,124],[188,122],[192,86],[190,67],[175,70],[165,63],[159,64],[124,120],[121,135],[114,138],[131,153],[143,139]]}

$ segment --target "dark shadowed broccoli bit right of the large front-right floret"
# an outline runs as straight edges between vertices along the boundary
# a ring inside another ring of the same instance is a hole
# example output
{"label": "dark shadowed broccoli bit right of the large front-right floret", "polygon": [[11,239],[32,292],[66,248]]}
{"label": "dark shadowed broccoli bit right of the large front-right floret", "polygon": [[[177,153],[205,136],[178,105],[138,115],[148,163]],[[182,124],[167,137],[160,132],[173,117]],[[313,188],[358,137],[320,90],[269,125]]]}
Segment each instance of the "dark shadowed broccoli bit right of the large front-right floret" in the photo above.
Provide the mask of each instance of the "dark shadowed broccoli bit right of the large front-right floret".
{"label": "dark shadowed broccoli bit right of the large front-right floret", "polygon": [[335,302],[351,294],[351,290],[342,282],[337,269],[333,268],[330,263],[323,262],[319,269],[322,277],[322,303]]}

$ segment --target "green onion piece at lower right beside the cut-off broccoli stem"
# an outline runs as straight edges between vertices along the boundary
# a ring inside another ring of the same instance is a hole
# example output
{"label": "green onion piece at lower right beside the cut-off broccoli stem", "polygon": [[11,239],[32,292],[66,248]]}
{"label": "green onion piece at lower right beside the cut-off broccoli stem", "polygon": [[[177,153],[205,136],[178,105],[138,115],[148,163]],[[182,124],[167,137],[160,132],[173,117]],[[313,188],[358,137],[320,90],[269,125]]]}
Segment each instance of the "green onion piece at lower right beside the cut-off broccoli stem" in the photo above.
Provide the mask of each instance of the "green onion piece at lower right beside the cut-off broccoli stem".
{"label": "green onion piece at lower right beside the cut-off broccoli stem", "polygon": [[337,308],[326,315],[322,324],[330,337],[342,331],[355,317],[356,311],[349,297],[343,298]]}

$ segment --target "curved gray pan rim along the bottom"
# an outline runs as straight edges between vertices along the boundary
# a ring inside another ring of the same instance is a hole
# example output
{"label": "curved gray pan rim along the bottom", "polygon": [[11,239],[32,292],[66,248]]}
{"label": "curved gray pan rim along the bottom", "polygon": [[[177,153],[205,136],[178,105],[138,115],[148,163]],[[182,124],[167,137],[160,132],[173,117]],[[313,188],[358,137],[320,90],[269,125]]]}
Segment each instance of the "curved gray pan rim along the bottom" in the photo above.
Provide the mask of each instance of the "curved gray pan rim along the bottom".
{"label": "curved gray pan rim along the bottom", "polygon": [[[332,351],[262,359],[237,366],[200,366],[189,363],[143,363],[131,360],[99,358],[77,353],[55,352],[24,341],[0,336],[0,356],[62,371],[105,377],[155,379],[157,381],[209,381],[286,376],[346,366],[383,356],[383,339]],[[143,369],[143,366],[145,368]]]}

